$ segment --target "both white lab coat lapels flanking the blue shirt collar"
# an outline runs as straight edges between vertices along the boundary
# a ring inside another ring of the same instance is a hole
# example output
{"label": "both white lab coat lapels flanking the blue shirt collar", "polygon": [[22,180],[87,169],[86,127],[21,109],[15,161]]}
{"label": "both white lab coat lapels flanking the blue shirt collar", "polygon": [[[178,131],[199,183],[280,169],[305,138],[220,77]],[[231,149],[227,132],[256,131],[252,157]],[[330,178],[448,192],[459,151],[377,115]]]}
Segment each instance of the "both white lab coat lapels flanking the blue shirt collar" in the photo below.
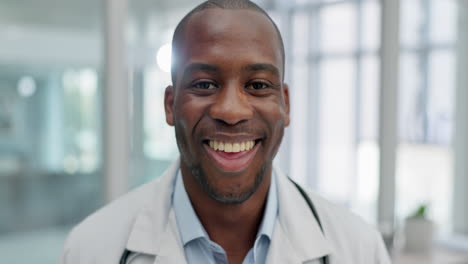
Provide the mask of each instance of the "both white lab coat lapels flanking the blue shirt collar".
{"label": "both white lab coat lapels flanking the blue shirt collar", "polygon": [[[135,218],[126,248],[158,256],[155,263],[186,263],[172,194],[179,169],[177,159],[151,186],[151,199]],[[287,176],[275,167],[279,216],[268,250],[267,263],[303,263],[331,253],[317,220]]]}

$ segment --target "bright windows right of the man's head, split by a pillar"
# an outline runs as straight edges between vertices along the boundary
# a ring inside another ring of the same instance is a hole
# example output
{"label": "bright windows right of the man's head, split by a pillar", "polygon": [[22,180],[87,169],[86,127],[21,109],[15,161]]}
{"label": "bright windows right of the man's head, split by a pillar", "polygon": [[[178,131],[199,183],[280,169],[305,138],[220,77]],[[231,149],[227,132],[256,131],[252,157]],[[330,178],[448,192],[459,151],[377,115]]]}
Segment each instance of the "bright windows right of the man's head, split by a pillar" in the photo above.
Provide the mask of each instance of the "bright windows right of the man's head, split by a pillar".
{"label": "bright windows right of the man's head, split by a pillar", "polygon": [[[457,1],[401,1],[396,215],[427,203],[451,230]],[[291,41],[290,171],[376,220],[380,1],[296,1]],[[307,173],[304,173],[307,172]],[[306,176],[304,176],[306,174]]]}

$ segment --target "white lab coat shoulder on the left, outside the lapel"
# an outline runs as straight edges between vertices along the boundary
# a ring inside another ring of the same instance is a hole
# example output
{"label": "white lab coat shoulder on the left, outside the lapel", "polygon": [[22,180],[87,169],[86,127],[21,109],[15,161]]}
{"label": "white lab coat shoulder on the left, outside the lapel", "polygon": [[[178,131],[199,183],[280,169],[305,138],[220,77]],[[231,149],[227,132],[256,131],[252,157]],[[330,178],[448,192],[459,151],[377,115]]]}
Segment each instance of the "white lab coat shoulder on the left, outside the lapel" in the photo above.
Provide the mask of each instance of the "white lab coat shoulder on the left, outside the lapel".
{"label": "white lab coat shoulder on the left, outside the lapel", "polygon": [[158,184],[159,179],[136,188],[74,227],[65,242],[62,263],[96,263],[97,256],[108,262],[120,257],[138,212]]}

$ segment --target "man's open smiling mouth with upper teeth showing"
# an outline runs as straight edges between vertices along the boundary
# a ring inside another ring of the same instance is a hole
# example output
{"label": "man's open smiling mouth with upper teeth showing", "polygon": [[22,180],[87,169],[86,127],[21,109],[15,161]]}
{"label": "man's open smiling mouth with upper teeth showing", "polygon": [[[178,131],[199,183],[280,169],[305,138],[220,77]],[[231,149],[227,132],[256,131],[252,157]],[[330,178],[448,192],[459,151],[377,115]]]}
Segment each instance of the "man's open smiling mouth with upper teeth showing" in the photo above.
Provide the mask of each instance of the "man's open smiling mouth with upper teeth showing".
{"label": "man's open smiling mouth with upper teeth showing", "polygon": [[218,168],[226,172],[239,172],[253,160],[261,140],[241,142],[206,140],[204,143],[208,156]]}

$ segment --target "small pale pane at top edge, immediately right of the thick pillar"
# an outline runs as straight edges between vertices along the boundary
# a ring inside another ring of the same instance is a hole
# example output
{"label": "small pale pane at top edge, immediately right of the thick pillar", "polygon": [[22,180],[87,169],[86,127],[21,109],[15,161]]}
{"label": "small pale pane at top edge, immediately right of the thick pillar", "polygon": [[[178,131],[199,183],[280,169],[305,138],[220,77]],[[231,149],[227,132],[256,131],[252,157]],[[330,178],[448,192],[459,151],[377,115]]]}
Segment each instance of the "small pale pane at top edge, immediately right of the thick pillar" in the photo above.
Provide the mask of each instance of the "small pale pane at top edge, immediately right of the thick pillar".
{"label": "small pale pane at top edge, immediately right of the thick pillar", "polygon": [[415,47],[421,42],[423,34],[424,13],[422,8],[424,0],[400,1],[401,10],[401,43],[403,47]]}

